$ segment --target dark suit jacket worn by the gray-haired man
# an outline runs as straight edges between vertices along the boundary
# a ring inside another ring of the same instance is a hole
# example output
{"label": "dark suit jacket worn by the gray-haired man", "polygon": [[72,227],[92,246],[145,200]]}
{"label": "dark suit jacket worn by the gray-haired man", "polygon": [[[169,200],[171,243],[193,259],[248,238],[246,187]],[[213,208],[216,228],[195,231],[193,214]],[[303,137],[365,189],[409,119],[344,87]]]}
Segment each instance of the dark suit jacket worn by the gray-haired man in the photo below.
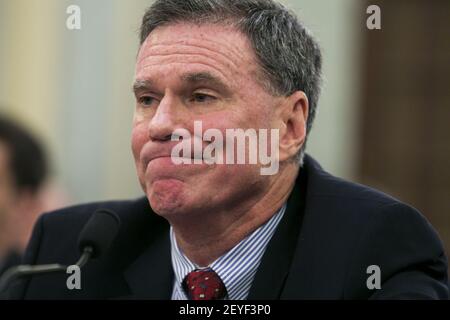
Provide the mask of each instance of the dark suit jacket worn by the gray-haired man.
{"label": "dark suit jacket worn by the gray-haired man", "polygon": [[[104,202],[46,214],[25,255],[28,264],[73,264],[77,238],[98,208],[122,219],[108,254],[82,270],[82,290],[67,274],[16,282],[13,298],[170,299],[169,225],[147,199]],[[367,268],[381,290],[367,288]],[[448,298],[447,259],[438,235],[415,209],[322,170],[309,156],[252,285],[249,299]]]}

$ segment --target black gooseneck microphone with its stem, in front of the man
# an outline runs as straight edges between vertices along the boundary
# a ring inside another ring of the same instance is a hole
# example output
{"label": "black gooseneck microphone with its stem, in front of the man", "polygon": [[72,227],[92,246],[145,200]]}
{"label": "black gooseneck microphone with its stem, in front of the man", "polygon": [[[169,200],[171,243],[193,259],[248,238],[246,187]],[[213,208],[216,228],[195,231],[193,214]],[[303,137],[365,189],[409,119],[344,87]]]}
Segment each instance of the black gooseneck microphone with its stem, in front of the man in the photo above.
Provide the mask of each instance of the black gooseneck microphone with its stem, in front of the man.
{"label": "black gooseneck microphone with its stem, in front of the man", "polygon": [[[120,218],[116,213],[99,209],[83,227],[78,237],[80,259],[75,265],[82,268],[91,258],[98,258],[108,251],[120,229]],[[20,277],[66,272],[68,266],[61,264],[46,265],[19,265],[8,269],[0,278],[0,293],[5,291],[9,284]]]}

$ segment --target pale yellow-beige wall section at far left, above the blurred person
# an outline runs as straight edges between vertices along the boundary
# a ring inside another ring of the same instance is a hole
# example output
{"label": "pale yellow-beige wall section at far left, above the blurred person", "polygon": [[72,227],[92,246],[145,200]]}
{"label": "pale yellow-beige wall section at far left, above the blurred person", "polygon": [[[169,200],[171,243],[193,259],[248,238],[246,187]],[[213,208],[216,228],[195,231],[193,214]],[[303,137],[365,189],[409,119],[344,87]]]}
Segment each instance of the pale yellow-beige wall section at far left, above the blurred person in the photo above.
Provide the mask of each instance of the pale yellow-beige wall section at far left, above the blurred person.
{"label": "pale yellow-beige wall section at far left, above the blurred person", "polygon": [[[2,111],[28,125],[55,145],[57,88],[55,62],[60,46],[54,40],[56,2],[1,0],[0,105]],[[53,40],[51,40],[53,39]],[[5,110],[6,109],[6,110]]]}

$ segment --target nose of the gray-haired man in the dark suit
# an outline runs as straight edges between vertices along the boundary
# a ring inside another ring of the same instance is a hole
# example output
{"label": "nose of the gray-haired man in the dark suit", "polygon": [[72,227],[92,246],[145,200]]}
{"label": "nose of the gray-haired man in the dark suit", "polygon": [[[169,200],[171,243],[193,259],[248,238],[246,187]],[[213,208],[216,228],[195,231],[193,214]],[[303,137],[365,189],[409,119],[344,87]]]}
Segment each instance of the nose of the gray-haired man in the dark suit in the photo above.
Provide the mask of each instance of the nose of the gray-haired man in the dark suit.
{"label": "nose of the gray-haired man in the dark suit", "polygon": [[168,141],[175,129],[180,127],[181,106],[170,96],[164,96],[156,113],[148,124],[148,134],[153,141]]}

